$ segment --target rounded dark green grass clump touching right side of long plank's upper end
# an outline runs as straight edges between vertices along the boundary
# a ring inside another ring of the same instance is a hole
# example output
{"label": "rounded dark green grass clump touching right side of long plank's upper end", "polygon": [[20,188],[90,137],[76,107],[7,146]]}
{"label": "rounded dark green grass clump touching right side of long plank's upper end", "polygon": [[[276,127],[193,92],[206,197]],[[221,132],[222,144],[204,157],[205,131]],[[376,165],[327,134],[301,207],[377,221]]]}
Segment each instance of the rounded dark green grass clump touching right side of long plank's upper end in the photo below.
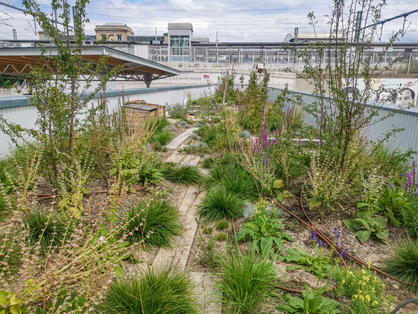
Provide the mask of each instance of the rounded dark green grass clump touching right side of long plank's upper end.
{"label": "rounded dark green grass clump touching right side of long plank's upper end", "polygon": [[200,216],[207,221],[238,218],[245,200],[225,188],[212,188],[199,204]]}

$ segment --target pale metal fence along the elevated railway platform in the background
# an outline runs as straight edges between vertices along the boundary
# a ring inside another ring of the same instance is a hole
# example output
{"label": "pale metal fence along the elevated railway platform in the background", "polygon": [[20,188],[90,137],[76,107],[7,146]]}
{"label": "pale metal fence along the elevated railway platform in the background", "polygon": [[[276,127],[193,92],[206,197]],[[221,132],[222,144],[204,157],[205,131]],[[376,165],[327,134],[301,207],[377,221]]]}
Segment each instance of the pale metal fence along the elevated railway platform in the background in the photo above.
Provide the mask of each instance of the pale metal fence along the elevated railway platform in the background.
{"label": "pale metal fence along the elevated railway platform in the background", "polygon": [[[0,47],[30,47],[35,43],[0,43]],[[193,46],[191,48],[171,48],[154,45],[111,45],[105,44],[128,54],[163,63],[170,67],[231,67],[236,64],[238,68],[248,69],[257,60],[261,60],[269,69],[290,69],[293,72],[302,72],[304,62],[298,57],[299,52],[290,51],[283,46]],[[324,64],[335,63],[335,51],[322,51],[321,56],[315,46],[301,47],[309,52],[311,62],[326,60]],[[307,50],[309,49],[309,50]],[[365,47],[362,58],[377,64],[384,73],[391,74],[418,74],[418,45],[417,47],[390,47],[383,52],[382,47]],[[353,49],[354,51],[354,49]],[[354,54],[354,52],[353,52]],[[350,54],[347,54],[348,58]],[[347,56],[345,56],[347,58]],[[391,62],[395,62],[388,70],[385,69]],[[347,60],[348,61],[348,60]]]}

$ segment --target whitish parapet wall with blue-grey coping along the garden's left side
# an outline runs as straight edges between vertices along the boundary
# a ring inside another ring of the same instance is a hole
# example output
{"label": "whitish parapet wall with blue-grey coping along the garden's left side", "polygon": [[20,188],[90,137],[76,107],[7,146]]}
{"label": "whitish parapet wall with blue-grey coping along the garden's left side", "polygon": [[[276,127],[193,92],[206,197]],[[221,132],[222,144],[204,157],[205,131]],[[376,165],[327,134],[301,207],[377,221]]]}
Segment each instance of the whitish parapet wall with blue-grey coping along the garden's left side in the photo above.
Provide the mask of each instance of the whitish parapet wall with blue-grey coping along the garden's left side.
{"label": "whitish parapet wall with blue-grey coping along the garden's left side", "polygon": [[[183,103],[187,98],[187,93],[201,95],[214,85],[186,85],[186,86],[166,86],[161,88],[141,88],[126,89],[125,100],[145,100],[147,103],[164,105],[165,103]],[[88,92],[86,93],[88,94]],[[109,111],[115,111],[118,99],[122,95],[122,90],[108,90],[106,93]],[[100,95],[95,95],[92,103],[97,104]],[[12,96],[0,98],[0,115],[3,115],[9,122],[20,124],[24,128],[36,128],[36,119],[38,111],[31,105],[31,102],[25,96]],[[0,131],[0,154],[7,152],[10,147],[10,138]]]}

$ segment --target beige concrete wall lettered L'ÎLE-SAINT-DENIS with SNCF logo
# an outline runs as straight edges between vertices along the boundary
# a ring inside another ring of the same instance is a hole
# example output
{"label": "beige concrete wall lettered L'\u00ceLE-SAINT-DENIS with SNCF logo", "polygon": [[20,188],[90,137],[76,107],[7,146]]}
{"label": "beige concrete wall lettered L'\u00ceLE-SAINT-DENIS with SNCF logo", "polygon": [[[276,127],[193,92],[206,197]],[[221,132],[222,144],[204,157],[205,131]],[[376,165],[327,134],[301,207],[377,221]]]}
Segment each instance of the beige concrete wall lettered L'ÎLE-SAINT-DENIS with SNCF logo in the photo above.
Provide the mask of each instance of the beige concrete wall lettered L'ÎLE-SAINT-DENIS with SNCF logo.
{"label": "beige concrete wall lettered L'\u00ceLE-SAINT-DENIS with SNCF logo", "polygon": [[[180,71],[184,71],[189,68],[176,68]],[[151,86],[167,86],[173,84],[204,84],[204,83],[217,83],[218,77],[221,77],[227,68],[190,68],[193,71],[191,74],[177,75],[173,77],[167,77],[161,80],[155,80],[151,83]],[[240,77],[244,76],[244,85],[248,85],[250,79],[251,69],[236,69],[237,75],[235,77],[235,84],[240,85]],[[263,74],[261,74],[263,75]],[[271,72],[269,86],[274,88],[284,88],[288,84],[288,88],[296,88],[296,74],[286,72]],[[123,88],[142,88],[145,87],[143,82],[119,82],[115,81],[116,89]]]}

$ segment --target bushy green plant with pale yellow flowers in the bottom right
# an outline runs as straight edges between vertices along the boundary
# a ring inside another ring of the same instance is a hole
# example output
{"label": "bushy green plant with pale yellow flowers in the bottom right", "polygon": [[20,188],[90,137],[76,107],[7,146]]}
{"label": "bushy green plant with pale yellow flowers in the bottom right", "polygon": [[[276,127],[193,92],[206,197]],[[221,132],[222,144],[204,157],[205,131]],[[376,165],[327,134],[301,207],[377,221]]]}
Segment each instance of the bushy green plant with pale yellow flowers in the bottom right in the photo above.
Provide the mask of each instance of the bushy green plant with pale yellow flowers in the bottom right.
{"label": "bushy green plant with pale yellow flowers in the bottom right", "polygon": [[349,307],[352,313],[383,313],[385,284],[372,274],[370,266],[360,269],[349,266],[348,270],[336,267],[333,277],[338,282],[337,295],[351,298]]}

